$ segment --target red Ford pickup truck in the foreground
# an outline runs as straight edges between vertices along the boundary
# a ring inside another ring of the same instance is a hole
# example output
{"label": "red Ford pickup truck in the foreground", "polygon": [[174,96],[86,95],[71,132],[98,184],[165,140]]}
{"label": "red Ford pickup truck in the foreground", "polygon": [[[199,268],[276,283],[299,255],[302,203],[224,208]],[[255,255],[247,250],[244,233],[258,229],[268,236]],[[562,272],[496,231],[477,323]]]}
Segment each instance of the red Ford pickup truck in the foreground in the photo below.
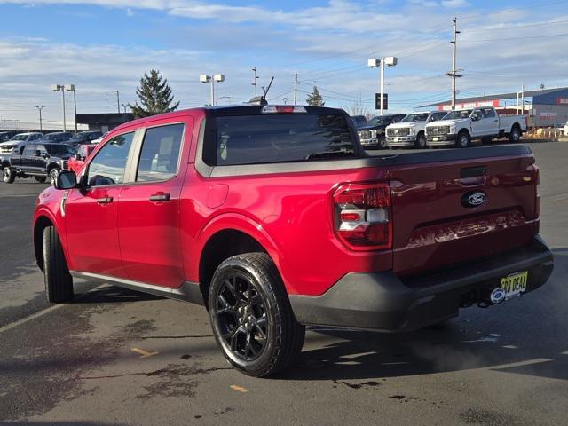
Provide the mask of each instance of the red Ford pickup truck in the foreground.
{"label": "red Ford pickup truck in the foreground", "polygon": [[60,173],[36,260],[51,302],[79,277],[203,304],[233,366],[271,375],[305,325],[405,331],[539,288],[538,187],[522,145],[370,157],[342,110],[197,108]]}

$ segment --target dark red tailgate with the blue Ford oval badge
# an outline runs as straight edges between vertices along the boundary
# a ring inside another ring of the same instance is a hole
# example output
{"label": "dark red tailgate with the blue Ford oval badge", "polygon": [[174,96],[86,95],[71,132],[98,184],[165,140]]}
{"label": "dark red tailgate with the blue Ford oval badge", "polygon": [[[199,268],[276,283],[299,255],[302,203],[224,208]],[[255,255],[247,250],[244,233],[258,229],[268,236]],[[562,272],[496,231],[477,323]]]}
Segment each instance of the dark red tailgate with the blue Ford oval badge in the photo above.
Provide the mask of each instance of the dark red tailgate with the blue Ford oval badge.
{"label": "dark red tailgate with the blue Ford oval badge", "polygon": [[389,178],[398,275],[490,257],[538,233],[538,168],[530,152],[400,165]]}

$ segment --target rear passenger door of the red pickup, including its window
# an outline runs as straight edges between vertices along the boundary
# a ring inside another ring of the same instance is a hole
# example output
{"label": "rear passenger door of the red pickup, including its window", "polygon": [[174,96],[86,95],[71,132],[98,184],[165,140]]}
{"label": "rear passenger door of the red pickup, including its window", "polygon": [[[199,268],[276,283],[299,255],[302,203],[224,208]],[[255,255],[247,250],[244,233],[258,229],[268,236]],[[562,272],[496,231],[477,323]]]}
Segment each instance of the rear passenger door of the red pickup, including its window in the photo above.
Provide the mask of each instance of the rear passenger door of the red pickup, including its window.
{"label": "rear passenger door of the red pickup, including its window", "polygon": [[[140,138],[133,183],[118,204],[122,264],[130,280],[177,288],[185,280],[180,247],[179,196],[193,122],[163,123]],[[185,142],[184,142],[185,139]],[[185,149],[184,149],[185,147]]]}

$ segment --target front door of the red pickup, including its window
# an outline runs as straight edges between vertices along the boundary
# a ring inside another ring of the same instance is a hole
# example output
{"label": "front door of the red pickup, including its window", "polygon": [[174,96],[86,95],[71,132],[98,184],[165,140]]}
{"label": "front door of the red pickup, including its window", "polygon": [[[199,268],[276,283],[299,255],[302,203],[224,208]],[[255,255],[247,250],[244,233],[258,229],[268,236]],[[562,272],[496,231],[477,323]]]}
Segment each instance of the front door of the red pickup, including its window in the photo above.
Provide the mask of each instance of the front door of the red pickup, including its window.
{"label": "front door of the red pickup, including its window", "polygon": [[89,163],[83,176],[85,188],[67,195],[62,210],[70,266],[75,271],[127,278],[116,226],[134,135],[132,131],[108,140]]}

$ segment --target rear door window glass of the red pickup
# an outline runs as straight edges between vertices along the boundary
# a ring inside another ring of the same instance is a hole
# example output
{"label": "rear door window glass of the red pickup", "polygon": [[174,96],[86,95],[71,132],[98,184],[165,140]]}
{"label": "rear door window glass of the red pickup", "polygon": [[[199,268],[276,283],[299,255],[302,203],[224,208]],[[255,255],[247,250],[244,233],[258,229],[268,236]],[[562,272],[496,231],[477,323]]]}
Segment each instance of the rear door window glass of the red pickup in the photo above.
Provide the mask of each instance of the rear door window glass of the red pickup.
{"label": "rear door window glass of the red pickup", "polygon": [[153,182],[174,177],[183,135],[184,124],[147,129],[138,160],[136,181]]}

